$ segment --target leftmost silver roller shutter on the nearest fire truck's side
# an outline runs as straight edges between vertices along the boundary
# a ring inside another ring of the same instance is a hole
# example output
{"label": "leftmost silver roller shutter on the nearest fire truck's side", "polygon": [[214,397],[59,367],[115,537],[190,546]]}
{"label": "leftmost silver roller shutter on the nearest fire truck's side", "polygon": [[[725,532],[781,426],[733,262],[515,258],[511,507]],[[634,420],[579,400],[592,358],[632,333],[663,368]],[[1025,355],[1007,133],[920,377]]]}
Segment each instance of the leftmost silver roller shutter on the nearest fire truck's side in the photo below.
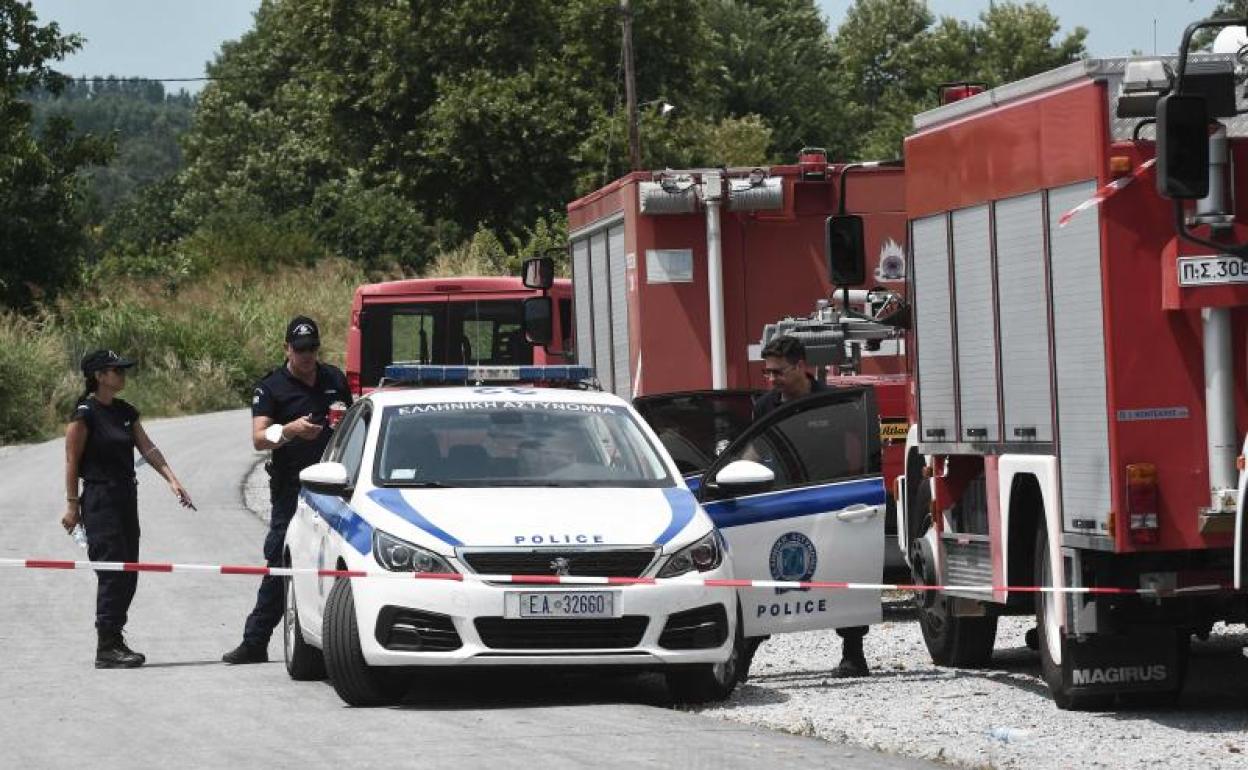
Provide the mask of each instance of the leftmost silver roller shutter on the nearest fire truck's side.
{"label": "leftmost silver roller shutter on the nearest fire truck's side", "polygon": [[919,339],[919,436],[936,443],[955,441],[957,427],[946,222],[945,215],[915,220],[910,232],[916,327],[925,329]]}

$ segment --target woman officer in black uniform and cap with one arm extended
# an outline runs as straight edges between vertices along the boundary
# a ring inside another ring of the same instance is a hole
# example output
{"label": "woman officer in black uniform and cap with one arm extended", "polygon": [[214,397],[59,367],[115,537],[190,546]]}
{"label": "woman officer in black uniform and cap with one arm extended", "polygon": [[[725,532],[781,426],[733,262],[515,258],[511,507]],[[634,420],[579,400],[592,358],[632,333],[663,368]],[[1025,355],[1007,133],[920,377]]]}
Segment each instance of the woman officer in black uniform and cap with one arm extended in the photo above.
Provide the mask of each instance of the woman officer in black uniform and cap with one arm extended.
{"label": "woman officer in black uniform and cap with one arm extended", "polygon": [[[82,358],[86,391],[65,431],[65,493],[67,509],[61,524],[71,530],[82,523],[92,562],[139,560],[139,507],[135,497],[135,448],[155,468],[182,505],[193,508],[160,449],[139,424],[139,411],[117,393],[126,387],[126,369],[135,362],[112,351],[92,351]],[[79,478],[82,493],[79,494]],[[121,629],[135,598],[139,574],[96,572],[95,626],[100,643],[97,669],[130,669],[146,658],[126,646]]]}

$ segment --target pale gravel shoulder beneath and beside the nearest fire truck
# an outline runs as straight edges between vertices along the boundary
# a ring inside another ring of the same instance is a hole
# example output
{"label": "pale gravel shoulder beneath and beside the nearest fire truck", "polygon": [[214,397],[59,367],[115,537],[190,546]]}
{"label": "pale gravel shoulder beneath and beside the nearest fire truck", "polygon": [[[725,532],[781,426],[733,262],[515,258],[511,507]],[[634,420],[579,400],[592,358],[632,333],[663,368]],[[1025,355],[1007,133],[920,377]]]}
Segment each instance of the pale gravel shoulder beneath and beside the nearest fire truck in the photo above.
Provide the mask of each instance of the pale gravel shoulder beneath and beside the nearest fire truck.
{"label": "pale gravel shoulder beneath and beside the nearest fire truck", "polygon": [[[963,768],[1248,766],[1248,645],[1244,626],[1218,625],[1194,640],[1177,708],[1111,713],[1058,710],[1023,644],[1030,618],[1002,618],[992,668],[931,663],[909,599],[886,599],[871,628],[872,675],[830,679],[840,659],[832,631],[774,636],[750,680],[708,716]],[[1013,729],[1010,740],[995,729]]]}

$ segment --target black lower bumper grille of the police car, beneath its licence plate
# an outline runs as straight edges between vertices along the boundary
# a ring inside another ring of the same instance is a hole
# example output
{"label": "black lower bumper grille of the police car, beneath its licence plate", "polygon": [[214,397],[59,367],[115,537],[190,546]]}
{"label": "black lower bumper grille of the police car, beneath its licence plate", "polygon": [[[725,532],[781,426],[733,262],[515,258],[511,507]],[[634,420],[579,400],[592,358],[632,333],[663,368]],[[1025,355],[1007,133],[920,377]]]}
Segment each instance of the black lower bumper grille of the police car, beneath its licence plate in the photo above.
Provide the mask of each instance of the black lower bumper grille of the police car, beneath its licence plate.
{"label": "black lower bumper grille of the police car, beneath its licence plate", "polygon": [[592,650],[636,646],[649,623],[645,615],[623,618],[510,619],[477,618],[477,634],[490,649]]}

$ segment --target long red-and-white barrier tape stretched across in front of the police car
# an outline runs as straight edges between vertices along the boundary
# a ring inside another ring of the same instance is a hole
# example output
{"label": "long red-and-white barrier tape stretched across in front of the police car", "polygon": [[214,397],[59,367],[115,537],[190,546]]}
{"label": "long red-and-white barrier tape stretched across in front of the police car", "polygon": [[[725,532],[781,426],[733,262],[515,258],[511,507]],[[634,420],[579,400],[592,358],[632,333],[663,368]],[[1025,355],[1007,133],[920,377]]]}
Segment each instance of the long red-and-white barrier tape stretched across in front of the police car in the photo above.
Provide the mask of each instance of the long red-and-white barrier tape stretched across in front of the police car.
{"label": "long red-and-white barrier tape stretched across in front of the police car", "polygon": [[515,585],[689,585],[706,588],[787,588],[787,589],[841,589],[841,590],[912,590],[912,592],[963,592],[985,593],[1016,592],[1027,594],[1117,594],[1117,595],[1171,595],[1229,590],[1229,585],[1192,585],[1174,589],[1117,588],[1108,585],[1055,588],[1048,585],[906,585],[901,583],[842,583],[832,580],[745,580],[726,578],[593,578],[583,575],[484,575],[461,573],[407,573],[363,569],[312,569],[292,567],[247,567],[228,564],[172,564],[165,562],[70,562],[57,559],[0,559],[0,568],[24,569],[94,569],[99,572],[156,572],[156,573],[208,573],[221,575],[258,575],[288,578],[316,575],[318,578],[389,578],[406,580],[451,580],[475,583],[509,583]]}

